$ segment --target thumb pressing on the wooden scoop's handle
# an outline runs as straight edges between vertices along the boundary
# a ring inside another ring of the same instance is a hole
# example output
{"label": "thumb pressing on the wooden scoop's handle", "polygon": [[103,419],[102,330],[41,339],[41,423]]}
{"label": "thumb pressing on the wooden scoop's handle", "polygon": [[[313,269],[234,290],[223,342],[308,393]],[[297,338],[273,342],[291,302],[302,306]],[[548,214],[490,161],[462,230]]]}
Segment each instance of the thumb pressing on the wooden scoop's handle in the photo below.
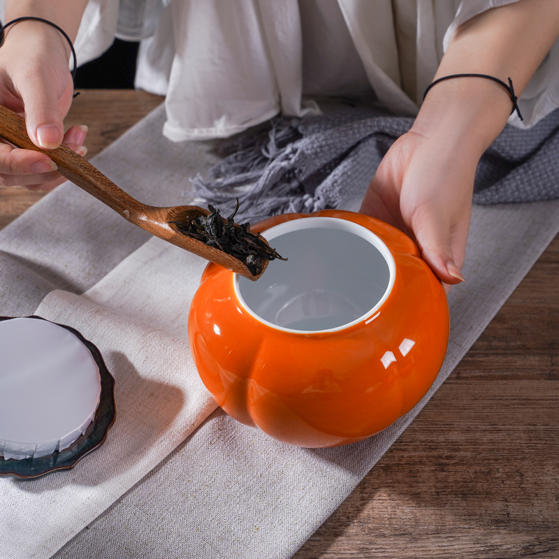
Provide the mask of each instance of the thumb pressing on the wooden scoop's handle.
{"label": "thumb pressing on the wooden scoop's handle", "polygon": [[59,84],[48,75],[24,80],[19,88],[24,104],[27,133],[43,150],[54,150],[64,138],[64,124],[59,106]]}

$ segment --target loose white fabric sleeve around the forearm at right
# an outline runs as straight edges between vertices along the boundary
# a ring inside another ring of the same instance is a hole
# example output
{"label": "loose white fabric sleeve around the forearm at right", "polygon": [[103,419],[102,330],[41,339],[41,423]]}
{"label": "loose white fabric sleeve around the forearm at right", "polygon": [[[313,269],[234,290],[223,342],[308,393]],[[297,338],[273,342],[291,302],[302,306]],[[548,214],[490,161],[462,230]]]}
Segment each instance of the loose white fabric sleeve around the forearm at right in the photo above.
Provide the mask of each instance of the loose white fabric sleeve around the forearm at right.
{"label": "loose white fabric sleeve around the forearm at right", "polygon": [[[520,0],[463,0],[458,6],[456,17],[444,34],[443,50],[447,48],[454,31],[464,22],[491,8],[500,8]],[[500,76],[495,76],[499,78]],[[510,76],[514,83],[514,76]],[[504,76],[503,81],[506,82]],[[559,107],[559,39],[553,43],[542,64],[532,76],[522,95],[518,97],[521,120],[516,112],[509,117],[509,124],[517,128],[531,128],[550,112]]]}

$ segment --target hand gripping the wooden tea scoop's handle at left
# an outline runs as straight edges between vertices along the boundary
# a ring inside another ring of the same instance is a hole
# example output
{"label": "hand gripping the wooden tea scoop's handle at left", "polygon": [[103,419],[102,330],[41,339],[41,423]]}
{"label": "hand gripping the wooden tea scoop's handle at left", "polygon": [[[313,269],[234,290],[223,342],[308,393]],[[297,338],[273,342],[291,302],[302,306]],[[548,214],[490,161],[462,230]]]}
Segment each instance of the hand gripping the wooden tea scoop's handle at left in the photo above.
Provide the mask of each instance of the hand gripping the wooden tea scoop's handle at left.
{"label": "hand gripping the wooden tea scoop's handle at left", "polygon": [[[27,133],[38,147],[61,143],[85,155],[87,126],[64,133],[62,120],[72,103],[73,81],[64,38],[48,24],[24,21],[9,27],[0,48],[0,103],[24,116]],[[1,141],[0,183],[29,190],[52,190],[66,179],[47,155]]]}

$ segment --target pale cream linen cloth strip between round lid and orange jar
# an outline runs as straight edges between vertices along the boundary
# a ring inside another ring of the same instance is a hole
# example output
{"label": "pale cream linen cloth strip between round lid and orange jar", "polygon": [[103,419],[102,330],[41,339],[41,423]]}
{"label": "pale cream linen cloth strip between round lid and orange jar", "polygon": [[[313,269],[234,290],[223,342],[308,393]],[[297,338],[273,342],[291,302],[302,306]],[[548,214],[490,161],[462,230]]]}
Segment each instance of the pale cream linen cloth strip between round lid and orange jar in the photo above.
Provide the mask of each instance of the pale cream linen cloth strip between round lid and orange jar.
{"label": "pale cream linen cloth strip between round lid and orange jar", "polygon": [[6,556],[50,556],[217,407],[188,347],[188,307],[205,263],[154,238],[82,297],[52,291],[39,305],[37,316],[78,328],[99,348],[115,377],[117,416],[103,447],[71,474],[3,484]]}

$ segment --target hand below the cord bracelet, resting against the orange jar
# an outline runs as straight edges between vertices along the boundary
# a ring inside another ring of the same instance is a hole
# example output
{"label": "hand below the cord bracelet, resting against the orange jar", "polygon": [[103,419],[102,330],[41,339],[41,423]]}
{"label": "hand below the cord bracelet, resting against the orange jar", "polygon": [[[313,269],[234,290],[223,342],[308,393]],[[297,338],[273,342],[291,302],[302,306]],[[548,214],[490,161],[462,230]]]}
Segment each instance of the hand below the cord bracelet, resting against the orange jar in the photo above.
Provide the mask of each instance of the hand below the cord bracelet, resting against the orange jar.
{"label": "hand below the cord bracelet, resting against the orange jar", "polygon": [[475,171],[509,111],[506,90],[491,80],[437,84],[412,129],[386,152],[363,198],[361,211],[411,236],[447,290],[464,281]]}

